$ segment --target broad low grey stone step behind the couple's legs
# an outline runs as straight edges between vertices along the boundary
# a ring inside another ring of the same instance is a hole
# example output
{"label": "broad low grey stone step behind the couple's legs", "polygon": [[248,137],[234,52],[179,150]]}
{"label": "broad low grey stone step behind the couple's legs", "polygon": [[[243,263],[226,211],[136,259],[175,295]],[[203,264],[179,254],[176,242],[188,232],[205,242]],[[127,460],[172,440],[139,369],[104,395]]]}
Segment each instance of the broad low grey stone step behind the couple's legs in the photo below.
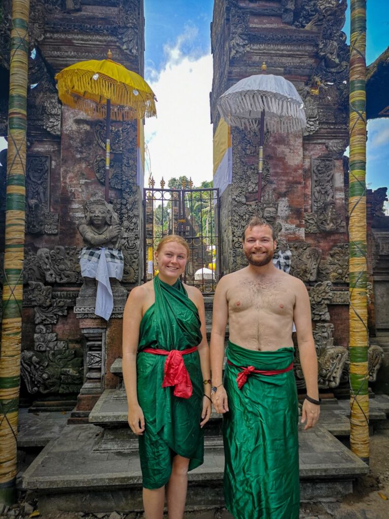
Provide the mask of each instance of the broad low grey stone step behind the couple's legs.
{"label": "broad low grey stone step behind the couple's legs", "polygon": [[[93,450],[101,428],[67,425],[23,475],[41,513],[49,510],[117,512],[142,510],[142,474],[136,453]],[[368,472],[363,461],[327,430],[299,431],[301,500],[340,499]],[[207,445],[204,463],[189,472],[187,510],[223,506],[224,453]]]}

